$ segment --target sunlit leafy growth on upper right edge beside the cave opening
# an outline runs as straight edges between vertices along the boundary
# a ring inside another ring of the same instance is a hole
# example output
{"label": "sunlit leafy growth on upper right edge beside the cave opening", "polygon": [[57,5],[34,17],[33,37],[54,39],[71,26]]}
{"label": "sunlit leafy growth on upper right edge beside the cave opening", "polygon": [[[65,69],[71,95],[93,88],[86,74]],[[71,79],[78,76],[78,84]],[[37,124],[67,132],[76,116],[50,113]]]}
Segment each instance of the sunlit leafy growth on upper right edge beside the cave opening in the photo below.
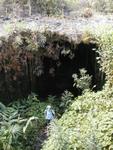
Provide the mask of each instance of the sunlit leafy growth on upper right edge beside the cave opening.
{"label": "sunlit leafy growth on upper right edge beside the cave opening", "polygon": [[97,58],[100,64],[100,72],[102,78],[106,74],[106,81],[108,86],[113,85],[113,29],[112,26],[99,26],[98,29],[92,30],[92,35],[98,43]]}

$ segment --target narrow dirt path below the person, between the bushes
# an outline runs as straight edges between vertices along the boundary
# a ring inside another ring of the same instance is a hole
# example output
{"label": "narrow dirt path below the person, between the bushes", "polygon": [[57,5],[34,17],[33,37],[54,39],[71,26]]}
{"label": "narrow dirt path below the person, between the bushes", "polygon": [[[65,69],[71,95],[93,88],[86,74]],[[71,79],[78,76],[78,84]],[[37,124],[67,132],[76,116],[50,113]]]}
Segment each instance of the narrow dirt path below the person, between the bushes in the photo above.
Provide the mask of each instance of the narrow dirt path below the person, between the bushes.
{"label": "narrow dirt path below the person, between the bushes", "polygon": [[42,148],[42,144],[44,143],[44,141],[47,139],[47,127],[44,127],[41,131],[40,131],[40,133],[39,133],[39,135],[38,135],[38,137],[37,137],[37,139],[36,139],[36,144],[35,144],[35,150],[41,150],[41,148]]}

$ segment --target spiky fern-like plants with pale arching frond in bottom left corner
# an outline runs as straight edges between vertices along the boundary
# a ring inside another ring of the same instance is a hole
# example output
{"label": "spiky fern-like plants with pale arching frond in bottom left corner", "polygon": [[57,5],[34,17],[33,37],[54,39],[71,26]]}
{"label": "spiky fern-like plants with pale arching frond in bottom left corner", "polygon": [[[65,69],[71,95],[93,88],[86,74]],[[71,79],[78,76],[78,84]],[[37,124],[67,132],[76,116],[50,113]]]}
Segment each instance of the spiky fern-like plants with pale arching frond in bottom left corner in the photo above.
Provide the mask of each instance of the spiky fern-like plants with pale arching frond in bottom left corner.
{"label": "spiky fern-like plants with pale arching frond in bottom left corner", "polygon": [[21,141],[24,140],[26,130],[32,120],[37,119],[22,118],[17,109],[5,107],[0,112],[0,148],[1,150],[22,149]]}

